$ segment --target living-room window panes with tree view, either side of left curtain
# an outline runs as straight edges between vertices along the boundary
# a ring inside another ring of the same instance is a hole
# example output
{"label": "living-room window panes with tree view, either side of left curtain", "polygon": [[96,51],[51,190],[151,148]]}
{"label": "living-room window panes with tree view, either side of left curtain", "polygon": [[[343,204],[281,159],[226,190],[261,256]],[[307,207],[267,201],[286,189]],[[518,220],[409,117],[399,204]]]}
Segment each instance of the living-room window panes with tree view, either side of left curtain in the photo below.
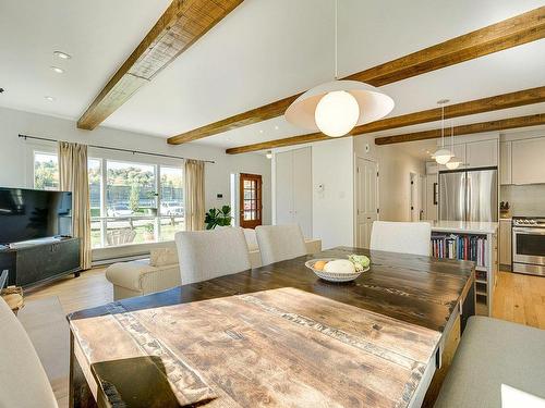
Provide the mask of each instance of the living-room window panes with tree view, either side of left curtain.
{"label": "living-room window panes with tree view, either side of left curtain", "polygon": [[[58,189],[57,154],[34,163],[35,188]],[[88,178],[94,248],[172,240],[185,227],[181,166],[89,159]]]}

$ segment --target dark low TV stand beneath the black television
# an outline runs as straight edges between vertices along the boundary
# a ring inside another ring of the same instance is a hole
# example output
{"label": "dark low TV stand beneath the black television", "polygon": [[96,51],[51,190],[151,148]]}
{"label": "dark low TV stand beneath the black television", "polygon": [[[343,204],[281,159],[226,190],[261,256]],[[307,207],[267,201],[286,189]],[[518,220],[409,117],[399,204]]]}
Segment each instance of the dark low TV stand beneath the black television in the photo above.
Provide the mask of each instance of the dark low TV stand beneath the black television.
{"label": "dark low TV stand beneath the black television", "polygon": [[80,238],[51,237],[16,243],[0,249],[0,271],[9,285],[24,288],[74,273],[80,275]]}

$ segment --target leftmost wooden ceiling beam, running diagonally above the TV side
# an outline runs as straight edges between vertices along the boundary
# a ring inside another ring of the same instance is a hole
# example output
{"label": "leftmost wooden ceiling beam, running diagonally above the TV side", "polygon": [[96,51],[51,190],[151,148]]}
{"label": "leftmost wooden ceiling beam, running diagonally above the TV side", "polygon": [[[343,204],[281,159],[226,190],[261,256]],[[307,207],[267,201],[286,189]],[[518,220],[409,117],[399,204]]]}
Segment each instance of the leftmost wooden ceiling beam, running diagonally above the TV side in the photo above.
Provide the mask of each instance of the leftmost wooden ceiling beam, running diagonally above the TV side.
{"label": "leftmost wooden ceiling beam, running diagonally above the TV side", "polygon": [[92,131],[243,0],[174,0],[77,121]]}

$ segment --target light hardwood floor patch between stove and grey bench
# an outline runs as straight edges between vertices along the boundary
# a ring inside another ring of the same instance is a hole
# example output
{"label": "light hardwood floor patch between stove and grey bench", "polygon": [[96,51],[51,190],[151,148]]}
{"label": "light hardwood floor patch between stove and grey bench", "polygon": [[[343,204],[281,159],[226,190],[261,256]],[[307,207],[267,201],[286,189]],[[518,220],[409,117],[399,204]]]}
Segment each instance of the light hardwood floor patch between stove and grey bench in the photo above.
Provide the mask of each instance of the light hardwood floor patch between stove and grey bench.
{"label": "light hardwood floor patch between stove and grey bench", "polygon": [[492,316],[545,329],[545,277],[499,272]]}

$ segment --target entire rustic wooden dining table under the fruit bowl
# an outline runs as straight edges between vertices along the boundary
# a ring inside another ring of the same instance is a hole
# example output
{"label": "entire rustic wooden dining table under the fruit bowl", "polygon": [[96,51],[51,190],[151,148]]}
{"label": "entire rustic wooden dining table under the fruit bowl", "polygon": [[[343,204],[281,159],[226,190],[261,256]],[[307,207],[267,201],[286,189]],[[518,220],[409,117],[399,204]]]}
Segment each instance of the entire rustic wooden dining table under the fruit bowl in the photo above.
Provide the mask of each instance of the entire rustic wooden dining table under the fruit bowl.
{"label": "entire rustic wooden dining table under the fruit bowl", "polygon": [[70,406],[426,406],[474,306],[473,262],[349,247],[123,299],[68,316]]}

